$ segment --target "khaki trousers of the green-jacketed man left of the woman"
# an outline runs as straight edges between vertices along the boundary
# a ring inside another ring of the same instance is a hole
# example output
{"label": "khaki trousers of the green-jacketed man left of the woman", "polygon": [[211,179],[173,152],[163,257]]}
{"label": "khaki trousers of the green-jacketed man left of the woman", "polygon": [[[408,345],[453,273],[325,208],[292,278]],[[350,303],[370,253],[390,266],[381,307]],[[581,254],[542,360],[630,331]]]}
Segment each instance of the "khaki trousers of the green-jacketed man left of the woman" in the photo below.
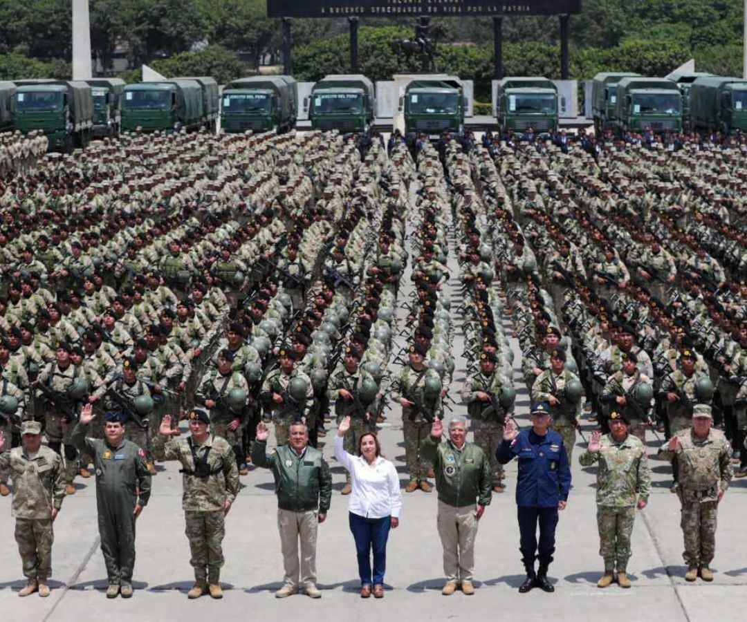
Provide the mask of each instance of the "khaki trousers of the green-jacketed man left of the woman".
{"label": "khaki trousers of the green-jacketed man left of the woman", "polygon": [[[304,588],[317,582],[317,511],[291,511],[278,508],[280,549],[285,568],[285,585]],[[299,564],[298,544],[301,544]],[[300,572],[300,583],[299,583]]]}

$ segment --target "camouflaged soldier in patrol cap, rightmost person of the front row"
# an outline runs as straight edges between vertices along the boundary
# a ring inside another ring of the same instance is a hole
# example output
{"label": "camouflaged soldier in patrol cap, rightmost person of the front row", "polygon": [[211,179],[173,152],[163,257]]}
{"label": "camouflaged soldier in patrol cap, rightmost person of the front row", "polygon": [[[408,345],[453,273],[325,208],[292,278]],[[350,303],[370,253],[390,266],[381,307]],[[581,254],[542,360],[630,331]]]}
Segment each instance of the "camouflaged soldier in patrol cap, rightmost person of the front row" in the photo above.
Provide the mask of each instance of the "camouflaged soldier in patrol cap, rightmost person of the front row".
{"label": "camouflaged soldier in patrol cap, rightmost person of the front row", "polygon": [[660,449],[666,459],[678,458],[678,497],[687,564],[685,579],[713,581],[710,562],[716,553],[716,514],[733,474],[731,447],[723,432],[711,428],[710,406],[693,408],[692,427],[681,430]]}

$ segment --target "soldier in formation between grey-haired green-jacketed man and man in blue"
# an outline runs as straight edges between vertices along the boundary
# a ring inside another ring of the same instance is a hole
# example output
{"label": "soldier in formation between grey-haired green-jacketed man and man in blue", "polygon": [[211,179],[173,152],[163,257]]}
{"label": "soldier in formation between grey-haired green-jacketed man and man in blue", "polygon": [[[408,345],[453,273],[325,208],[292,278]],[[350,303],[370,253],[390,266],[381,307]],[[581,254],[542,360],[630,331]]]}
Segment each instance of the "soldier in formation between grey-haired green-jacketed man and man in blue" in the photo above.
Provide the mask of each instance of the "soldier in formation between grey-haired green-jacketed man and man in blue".
{"label": "soldier in formation between grey-haired green-jacketed man and man in blue", "polygon": [[504,387],[510,387],[509,379],[496,370],[498,357],[495,352],[480,354],[480,373],[465,379],[462,387],[462,402],[467,402],[467,414],[472,421],[474,444],[488,457],[493,474],[493,490],[503,492],[503,465],[495,458],[495,451],[503,441],[503,423],[506,410],[498,399]]}

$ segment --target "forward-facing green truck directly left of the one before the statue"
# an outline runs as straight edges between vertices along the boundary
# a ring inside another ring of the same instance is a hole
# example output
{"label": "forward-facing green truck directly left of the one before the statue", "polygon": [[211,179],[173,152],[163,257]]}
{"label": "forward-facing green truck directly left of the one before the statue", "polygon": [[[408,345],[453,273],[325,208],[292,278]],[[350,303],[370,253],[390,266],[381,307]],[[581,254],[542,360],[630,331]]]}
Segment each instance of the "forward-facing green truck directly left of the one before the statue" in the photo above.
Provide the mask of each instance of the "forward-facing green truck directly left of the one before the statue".
{"label": "forward-facing green truck directly left of the one before the statue", "polygon": [[303,100],[311,128],[368,134],[373,125],[376,96],[365,75],[327,75]]}

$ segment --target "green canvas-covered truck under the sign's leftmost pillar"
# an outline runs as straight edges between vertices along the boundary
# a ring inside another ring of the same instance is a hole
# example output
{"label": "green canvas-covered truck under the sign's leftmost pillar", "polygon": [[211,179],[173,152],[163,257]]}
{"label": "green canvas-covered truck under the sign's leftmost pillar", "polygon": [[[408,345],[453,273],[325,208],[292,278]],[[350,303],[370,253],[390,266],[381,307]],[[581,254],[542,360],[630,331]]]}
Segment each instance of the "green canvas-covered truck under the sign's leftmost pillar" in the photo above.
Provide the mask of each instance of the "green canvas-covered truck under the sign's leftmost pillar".
{"label": "green canvas-covered truck under the sign's leftmost pillar", "polygon": [[298,116],[298,84],[290,75],[255,75],[223,87],[223,131],[289,131]]}

